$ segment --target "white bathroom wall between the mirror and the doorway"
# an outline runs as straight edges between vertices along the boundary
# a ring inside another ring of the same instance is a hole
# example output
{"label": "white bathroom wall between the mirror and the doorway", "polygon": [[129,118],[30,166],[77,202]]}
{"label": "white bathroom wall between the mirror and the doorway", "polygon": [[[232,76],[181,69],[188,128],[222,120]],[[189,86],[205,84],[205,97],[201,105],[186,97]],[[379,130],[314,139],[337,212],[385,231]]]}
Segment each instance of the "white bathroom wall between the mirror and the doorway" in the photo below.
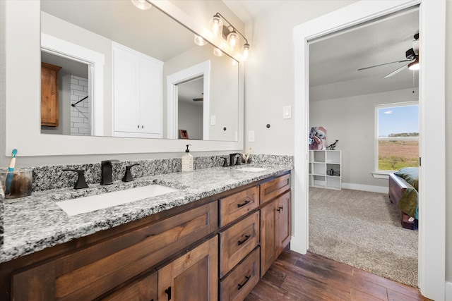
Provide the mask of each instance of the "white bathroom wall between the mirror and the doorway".
{"label": "white bathroom wall between the mirror and the doorway", "polygon": [[[283,106],[294,105],[293,27],[352,2],[286,1],[246,24],[251,47],[245,63],[245,149],[294,153],[294,118],[283,119]],[[249,130],[256,142],[247,142]]]}

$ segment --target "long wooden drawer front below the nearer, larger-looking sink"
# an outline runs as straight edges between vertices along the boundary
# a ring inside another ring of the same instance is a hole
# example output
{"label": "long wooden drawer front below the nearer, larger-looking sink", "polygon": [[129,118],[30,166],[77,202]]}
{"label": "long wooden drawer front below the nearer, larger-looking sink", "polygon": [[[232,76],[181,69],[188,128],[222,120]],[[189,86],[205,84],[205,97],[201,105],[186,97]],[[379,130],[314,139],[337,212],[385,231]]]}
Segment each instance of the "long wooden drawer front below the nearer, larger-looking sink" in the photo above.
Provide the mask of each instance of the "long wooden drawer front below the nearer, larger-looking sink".
{"label": "long wooden drawer front below the nearer, larger-looking sink", "polygon": [[217,229],[211,202],[13,274],[13,299],[93,299]]}

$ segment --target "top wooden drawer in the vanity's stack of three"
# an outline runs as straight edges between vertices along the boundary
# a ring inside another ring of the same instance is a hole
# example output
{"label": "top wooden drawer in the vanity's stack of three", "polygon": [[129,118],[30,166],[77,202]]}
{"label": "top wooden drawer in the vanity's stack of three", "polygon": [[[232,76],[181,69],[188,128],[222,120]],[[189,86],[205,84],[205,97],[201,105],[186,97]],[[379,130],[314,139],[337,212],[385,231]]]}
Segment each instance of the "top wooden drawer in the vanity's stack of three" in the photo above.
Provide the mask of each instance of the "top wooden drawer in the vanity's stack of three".
{"label": "top wooden drawer in the vanity's stack of three", "polygon": [[240,216],[244,216],[249,211],[257,208],[258,200],[258,186],[220,199],[220,227],[226,226]]}

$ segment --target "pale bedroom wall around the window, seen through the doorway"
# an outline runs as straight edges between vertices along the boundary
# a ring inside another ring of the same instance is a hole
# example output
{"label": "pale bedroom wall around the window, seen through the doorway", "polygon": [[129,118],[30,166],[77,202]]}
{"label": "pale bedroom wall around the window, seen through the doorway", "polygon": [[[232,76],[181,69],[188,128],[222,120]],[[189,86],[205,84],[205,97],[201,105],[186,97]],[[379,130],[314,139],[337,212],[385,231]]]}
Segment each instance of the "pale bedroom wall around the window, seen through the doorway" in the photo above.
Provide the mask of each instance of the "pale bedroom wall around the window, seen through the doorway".
{"label": "pale bedroom wall around the window, seen through the doorway", "polygon": [[309,126],[325,126],[327,145],[339,140],[343,183],[388,187],[374,172],[375,106],[417,101],[417,89],[320,100],[309,103]]}

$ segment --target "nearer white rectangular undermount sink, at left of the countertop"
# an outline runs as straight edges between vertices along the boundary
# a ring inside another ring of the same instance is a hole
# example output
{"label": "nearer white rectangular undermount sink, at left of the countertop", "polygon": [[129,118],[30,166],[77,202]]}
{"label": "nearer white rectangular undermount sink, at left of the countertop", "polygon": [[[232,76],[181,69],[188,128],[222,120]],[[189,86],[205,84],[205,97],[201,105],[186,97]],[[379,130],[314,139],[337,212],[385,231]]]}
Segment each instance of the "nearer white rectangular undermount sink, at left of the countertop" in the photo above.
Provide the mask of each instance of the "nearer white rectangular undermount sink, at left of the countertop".
{"label": "nearer white rectangular undermount sink, at left of the countertop", "polygon": [[114,192],[102,193],[100,195],[90,195],[88,197],[79,197],[77,199],[68,199],[57,202],[57,205],[63,209],[69,216],[104,209],[108,207],[126,204],[139,199],[148,197],[157,197],[165,195],[177,189],[162,185],[147,185],[142,187],[130,188]]}

